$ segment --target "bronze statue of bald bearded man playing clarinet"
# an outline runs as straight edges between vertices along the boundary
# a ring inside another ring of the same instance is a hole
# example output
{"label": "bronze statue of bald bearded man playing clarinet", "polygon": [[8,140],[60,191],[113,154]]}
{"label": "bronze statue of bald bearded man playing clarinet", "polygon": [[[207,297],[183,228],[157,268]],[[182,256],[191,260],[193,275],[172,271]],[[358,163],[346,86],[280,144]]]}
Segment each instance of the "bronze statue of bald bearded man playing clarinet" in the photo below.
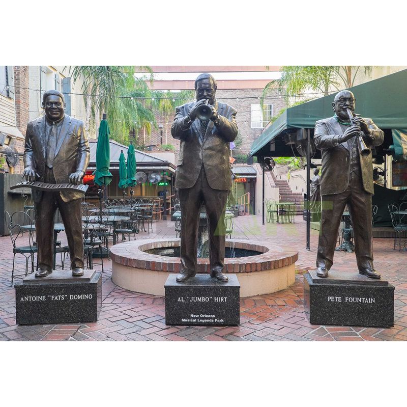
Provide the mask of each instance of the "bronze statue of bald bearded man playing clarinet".
{"label": "bronze statue of bald bearded man playing clarinet", "polygon": [[369,146],[383,143],[384,132],[371,119],[355,116],[356,99],[341,91],[332,103],[335,115],[315,124],[315,146],[322,150],[322,219],[316,274],[328,277],[345,205],[349,208],[359,274],[380,279],[373,266],[373,165]]}

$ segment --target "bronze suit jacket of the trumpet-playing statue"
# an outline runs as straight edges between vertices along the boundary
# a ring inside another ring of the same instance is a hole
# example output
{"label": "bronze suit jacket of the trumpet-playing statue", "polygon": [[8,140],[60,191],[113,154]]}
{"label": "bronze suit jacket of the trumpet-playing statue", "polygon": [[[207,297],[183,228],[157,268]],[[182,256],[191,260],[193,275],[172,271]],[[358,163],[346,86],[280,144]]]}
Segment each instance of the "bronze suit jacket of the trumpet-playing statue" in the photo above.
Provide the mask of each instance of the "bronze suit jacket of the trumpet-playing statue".
{"label": "bronze suit jacket of the trumpet-playing statue", "polygon": [[178,106],[171,126],[172,137],[181,140],[175,186],[194,186],[203,163],[209,186],[227,191],[231,188],[229,143],[234,141],[238,134],[237,111],[226,103],[215,101],[214,107],[220,116],[219,125],[216,126],[210,120],[203,135],[199,119],[195,119],[187,129],[183,126],[184,117],[194,104],[192,102]]}

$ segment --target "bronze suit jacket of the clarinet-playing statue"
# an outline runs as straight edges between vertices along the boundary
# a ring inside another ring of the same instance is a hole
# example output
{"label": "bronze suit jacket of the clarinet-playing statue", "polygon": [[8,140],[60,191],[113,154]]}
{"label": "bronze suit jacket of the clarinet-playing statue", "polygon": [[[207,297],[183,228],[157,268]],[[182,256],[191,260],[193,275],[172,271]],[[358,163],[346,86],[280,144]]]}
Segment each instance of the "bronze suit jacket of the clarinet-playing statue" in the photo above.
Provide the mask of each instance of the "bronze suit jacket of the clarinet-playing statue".
{"label": "bronze suit jacket of the clarinet-playing statue", "polygon": [[[384,132],[377,127],[371,119],[364,119],[372,130],[372,139],[369,146],[380,146],[383,143]],[[337,143],[335,135],[343,134],[335,117],[318,120],[315,123],[314,143],[316,148],[322,150],[322,175],[321,175],[321,195],[340,194],[345,191],[349,184],[351,151],[348,144]],[[336,139],[336,140],[335,140]],[[351,139],[353,141],[353,139]],[[360,156],[360,167],[363,181],[363,188],[369,194],[373,191],[373,165],[371,153],[367,156]]]}

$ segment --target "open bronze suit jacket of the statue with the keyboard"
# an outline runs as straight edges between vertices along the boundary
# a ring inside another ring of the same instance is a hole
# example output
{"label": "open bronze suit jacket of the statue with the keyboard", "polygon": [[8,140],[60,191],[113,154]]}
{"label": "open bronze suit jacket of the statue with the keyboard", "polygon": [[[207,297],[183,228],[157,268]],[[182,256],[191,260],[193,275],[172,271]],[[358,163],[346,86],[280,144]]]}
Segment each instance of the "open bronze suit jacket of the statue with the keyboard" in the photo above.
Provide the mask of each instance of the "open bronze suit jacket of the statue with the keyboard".
{"label": "open bronze suit jacket of the statue with the keyboard", "polygon": [[[36,171],[36,181],[44,181],[47,137],[45,126],[46,116],[35,119],[27,124],[25,133],[24,166]],[[70,174],[86,171],[90,159],[88,137],[83,131],[83,122],[65,115],[61,131],[57,138],[53,174],[57,183],[69,183]],[[61,191],[64,202],[82,198],[83,194],[75,191]],[[40,202],[42,191],[33,190],[34,202]]]}

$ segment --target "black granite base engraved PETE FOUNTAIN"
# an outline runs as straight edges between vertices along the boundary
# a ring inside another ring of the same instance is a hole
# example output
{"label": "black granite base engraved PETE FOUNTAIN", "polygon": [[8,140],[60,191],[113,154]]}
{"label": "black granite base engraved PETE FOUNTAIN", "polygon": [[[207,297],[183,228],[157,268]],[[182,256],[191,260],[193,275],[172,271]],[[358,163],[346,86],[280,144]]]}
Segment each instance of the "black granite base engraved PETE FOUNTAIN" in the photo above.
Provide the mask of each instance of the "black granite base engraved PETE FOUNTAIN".
{"label": "black granite base engraved PETE FOUNTAIN", "polygon": [[331,270],[321,278],[310,270],[304,274],[304,308],[314,325],[392,327],[394,287],[358,272]]}

